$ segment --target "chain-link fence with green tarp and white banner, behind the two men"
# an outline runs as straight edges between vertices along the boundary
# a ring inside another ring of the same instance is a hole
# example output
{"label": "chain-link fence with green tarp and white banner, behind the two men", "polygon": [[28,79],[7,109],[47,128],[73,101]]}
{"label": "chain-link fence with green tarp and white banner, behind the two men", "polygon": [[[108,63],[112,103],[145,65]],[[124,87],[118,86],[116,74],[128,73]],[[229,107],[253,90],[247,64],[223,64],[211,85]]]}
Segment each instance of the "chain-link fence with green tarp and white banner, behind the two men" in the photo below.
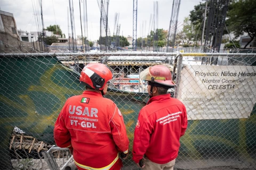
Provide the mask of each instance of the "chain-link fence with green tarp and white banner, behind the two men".
{"label": "chain-link fence with green tarp and white banner, behind the two men", "polygon": [[114,74],[105,97],[122,112],[130,140],[123,169],[139,169],[131,159],[133,134],[149,99],[139,73],[153,65],[170,69],[178,86],[168,92],[187,108],[188,128],[174,168],[256,168],[254,53],[42,52],[0,42],[0,169],[15,168],[13,160],[17,168],[21,160],[43,159],[55,144],[53,127],[65,101],[85,90],[79,73],[96,62]]}

